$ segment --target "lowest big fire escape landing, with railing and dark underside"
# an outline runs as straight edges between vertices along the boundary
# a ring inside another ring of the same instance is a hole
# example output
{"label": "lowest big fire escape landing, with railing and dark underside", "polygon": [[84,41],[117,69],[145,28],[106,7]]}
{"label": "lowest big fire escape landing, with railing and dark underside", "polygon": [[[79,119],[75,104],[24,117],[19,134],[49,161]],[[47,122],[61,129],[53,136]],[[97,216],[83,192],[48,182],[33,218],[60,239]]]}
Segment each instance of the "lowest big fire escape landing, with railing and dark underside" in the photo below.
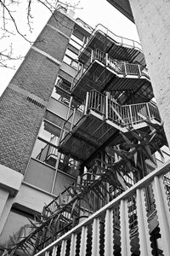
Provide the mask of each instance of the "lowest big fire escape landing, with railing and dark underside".
{"label": "lowest big fire escape landing, with railing and dark underside", "polygon": [[[78,109],[74,109],[71,116],[74,122]],[[160,123],[161,118],[155,104],[147,102],[132,105],[119,105],[114,99],[105,96],[96,90],[87,93],[84,101],[84,110],[76,125],[71,125],[71,130],[61,135],[59,151],[71,154],[77,160],[87,160],[91,154],[104,143],[118,144],[122,137],[117,136],[117,131],[127,133],[127,128],[148,131],[149,126],[144,120],[150,119]],[[68,120],[69,121],[69,120]],[[74,122],[75,124],[75,122]],[[67,121],[65,122],[67,125]]]}

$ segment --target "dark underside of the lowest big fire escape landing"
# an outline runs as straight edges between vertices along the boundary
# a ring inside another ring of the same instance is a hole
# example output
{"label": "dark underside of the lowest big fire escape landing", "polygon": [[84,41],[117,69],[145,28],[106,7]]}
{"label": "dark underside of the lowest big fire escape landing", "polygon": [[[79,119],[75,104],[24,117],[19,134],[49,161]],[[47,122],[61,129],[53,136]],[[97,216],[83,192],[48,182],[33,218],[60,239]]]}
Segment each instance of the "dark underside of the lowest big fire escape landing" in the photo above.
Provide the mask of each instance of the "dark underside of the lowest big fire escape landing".
{"label": "dark underside of the lowest big fire escape landing", "polygon": [[94,151],[102,146],[116,129],[108,125],[101,117],[89,113],[73,128],[59,145],[59,152],[71,154],[78,160],[87,160]]}

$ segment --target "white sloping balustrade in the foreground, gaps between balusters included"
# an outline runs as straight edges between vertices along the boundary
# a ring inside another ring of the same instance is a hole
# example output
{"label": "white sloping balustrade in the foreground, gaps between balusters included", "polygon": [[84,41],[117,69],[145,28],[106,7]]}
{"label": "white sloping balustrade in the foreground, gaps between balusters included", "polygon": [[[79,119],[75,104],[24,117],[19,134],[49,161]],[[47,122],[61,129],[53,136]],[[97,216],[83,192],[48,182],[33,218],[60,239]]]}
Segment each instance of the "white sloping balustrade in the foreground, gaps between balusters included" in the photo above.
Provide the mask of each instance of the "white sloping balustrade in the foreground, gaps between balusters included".
{"label": "white sloping balustrade in the foreground, gaps between balusters included", "polygon": [[[170,161],[35,256],[77,255],[76,251],[78,255],[87,251],[88,255],[170,255],[169,185],[163,177],[169,170]],[[146,207],[149,188],[155,203],[151,215]]]}

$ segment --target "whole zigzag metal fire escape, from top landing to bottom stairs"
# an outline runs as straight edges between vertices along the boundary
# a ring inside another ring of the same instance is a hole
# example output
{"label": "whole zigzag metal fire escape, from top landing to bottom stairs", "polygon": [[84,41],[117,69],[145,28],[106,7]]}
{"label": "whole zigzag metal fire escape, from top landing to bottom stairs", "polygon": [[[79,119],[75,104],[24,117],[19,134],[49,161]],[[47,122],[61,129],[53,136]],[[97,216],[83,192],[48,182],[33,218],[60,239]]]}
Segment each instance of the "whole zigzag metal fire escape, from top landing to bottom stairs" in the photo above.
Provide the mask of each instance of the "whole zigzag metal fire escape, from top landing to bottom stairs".
{"label": "whole zigzag metal fire escape, from top landing to bottom stairs", "polygon": [[[58,149],[80,162],[80,176],[77,183],[44,207],[42,216],[37,216],[37,224],[32,224],[31,235],[11,247],[10,255],[26,246],[28,252],[38,252],[105,206],[156,168],[154,153],[167,143],[156,103],[151,102],[154,95],[140,44],[117,37],[99,25],[82,47],[79,62]],[[60,82],[58,87],[61,93]],[[154,218],[152,193],[150,189],[145,191],[149,216]],[[129,224],[133,255],[139,255],[135,246],[135,197],[128,203],[132,206]],[[116,216],[118,234],[120,224]],[[155,229],[153,224],[151,230]],[[78,244],[80,241],[77,247]],[[90,247],[90,240],[88,244]],[[116,247],[119,255],[119,241]],[[47,255],[61,255],[62,247],[58,250]]]}

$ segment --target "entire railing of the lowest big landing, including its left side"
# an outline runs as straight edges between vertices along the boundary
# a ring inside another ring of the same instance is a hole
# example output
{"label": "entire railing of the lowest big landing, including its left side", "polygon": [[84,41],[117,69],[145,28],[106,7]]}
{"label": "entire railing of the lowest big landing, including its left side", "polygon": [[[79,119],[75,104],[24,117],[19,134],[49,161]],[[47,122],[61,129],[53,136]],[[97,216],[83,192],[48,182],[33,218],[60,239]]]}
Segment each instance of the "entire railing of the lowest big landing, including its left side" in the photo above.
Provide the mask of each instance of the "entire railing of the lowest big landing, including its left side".
{"label": "entire railing of the lowest big landing, including its left side", "polygon": [[[71,122],[70,131],[79,125],[79,122],[90,110],[94,110],[94,112],[99,113],[105,119],[110,119],[113,123],[120,126],[120,130],[121,127],[133,126],[142,123],[145,119],[156,119],[156,121],[161,122],[161,116],[155,104],[151,102],[144,102],[121,106],[116,103],[114,99],[99,93],[97,90],[87,92],[86,99],[83,101],[81,107],[83,107],[82,112],[75,108],[71,117],[65,121],[66,126],[68,126],[68,122]],[[81,114],[80,118],[77,119],[76,122],[75,117],[77,116],[77,112]],[[60,142],[63,139],[65,139],[65,133],[61,131]]]}

